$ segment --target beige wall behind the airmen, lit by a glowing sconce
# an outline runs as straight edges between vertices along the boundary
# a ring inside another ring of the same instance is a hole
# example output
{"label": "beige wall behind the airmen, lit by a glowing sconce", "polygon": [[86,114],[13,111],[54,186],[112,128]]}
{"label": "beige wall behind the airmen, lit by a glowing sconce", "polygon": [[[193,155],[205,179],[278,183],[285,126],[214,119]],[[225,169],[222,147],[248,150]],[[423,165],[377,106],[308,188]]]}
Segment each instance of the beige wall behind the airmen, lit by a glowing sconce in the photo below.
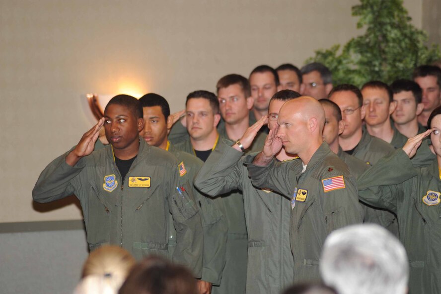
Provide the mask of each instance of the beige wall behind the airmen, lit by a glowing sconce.
{"label": "beige wall behind the airmen, lit by a glowing sconce", "polygon": [[[419,27],[421,1],[405,1]],[[81,217],[69,200],[33,204],[31,190],[93,124],[86,93],[156,92],[176,111],[225,74],[301,66],[313,50],[346,42],[360,33],[356,3],[0,1],[0,222]]]}

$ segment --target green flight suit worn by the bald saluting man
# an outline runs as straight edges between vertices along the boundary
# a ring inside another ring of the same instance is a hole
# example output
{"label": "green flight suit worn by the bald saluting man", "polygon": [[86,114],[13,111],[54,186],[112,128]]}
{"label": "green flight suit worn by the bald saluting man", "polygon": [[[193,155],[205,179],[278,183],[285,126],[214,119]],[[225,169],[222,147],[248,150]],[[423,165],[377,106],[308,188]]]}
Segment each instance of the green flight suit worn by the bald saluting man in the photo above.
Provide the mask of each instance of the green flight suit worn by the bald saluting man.
{"label": "green flight suit worn by the bald saluting man", "polygon": [[252,164],[253,159],[252,155],[245,159],[253,185],[290,197],[294,204],[290,221],[294,283],[318,281],[326,236],[363,220],[354,177],[326,143],[320,145],[303,173],[300,159],[273,160],[265,167]]}

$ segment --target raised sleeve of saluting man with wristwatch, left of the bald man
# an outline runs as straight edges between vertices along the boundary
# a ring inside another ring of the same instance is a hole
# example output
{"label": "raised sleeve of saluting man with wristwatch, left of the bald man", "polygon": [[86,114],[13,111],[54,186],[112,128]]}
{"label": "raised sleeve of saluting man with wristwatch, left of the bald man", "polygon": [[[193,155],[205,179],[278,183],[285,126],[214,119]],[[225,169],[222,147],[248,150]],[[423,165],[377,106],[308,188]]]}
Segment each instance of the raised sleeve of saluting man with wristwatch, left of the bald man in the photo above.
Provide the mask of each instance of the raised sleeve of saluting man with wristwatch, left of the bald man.
{"label": "raised sleeve of saluting man with wristwatch, left of the bald man", "polygon": [[199,170],[195,186],[209,196],[226,194],[231,190],[242,190],[240,161],[243,153],[221,140]]}

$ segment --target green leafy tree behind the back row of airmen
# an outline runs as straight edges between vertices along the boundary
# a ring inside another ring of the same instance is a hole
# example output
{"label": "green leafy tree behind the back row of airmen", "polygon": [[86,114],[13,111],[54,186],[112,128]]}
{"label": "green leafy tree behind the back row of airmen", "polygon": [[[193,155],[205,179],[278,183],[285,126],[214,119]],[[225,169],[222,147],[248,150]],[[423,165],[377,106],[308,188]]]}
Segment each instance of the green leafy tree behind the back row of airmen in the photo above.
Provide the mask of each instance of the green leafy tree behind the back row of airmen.
{"label": "green leafy tree behind the back row of airmen", "polygon": [[402,0],[361,0],[352,7],[352,15],[360,17],[357,28],[366,27],[366,33],[349,40],[342,50],[337,44],[315,51],[306,61],[326,65],[334,85],[360,87],[371,80],[390,84],[409,79],[415,67],[440,59],[439,46],[425,45],[427,33],[410,23]]}

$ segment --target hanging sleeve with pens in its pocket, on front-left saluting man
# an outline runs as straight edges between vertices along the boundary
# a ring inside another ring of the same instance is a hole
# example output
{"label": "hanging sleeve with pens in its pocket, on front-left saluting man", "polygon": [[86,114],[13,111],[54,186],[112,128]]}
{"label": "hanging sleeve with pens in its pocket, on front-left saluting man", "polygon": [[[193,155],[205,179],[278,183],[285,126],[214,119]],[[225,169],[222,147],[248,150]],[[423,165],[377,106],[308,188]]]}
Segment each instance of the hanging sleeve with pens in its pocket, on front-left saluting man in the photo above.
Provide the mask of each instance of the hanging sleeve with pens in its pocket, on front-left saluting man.
{"label": "hanging sleeve with pens in its pocket, on front-left saluting man", "polygon": [[195,277],[202,275],[203,231],[201,217],[188,182],[180,181],[178,167],[169,171],[168,204],[176,229],[173,262],[188,267]]}

